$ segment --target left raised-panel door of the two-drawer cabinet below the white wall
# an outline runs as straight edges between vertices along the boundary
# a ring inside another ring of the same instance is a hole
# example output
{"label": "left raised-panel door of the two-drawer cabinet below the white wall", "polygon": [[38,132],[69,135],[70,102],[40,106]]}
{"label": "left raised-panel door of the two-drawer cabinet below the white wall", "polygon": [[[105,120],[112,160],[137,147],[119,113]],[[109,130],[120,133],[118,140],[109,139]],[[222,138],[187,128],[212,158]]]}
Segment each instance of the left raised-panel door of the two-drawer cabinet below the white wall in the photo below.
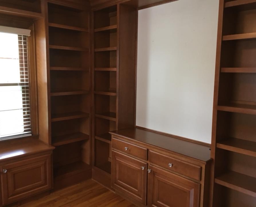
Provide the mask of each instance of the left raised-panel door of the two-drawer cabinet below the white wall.
{"label": "left raised-panel door of the two-drawer cabinet below the white wall", "polygon": [[112,151],[111,186],[146,205],[147,163]]}

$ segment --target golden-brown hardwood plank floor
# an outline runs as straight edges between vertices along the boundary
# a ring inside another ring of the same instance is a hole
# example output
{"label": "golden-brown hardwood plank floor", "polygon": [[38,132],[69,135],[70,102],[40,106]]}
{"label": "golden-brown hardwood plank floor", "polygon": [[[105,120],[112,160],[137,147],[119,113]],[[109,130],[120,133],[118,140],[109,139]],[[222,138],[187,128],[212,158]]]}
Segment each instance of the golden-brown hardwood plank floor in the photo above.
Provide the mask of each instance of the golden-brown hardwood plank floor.
{"label": "golden-brown hardwood plank floor", "polygon": [[81,182],[47,195],[22,207],[135,207],[93,180]]}

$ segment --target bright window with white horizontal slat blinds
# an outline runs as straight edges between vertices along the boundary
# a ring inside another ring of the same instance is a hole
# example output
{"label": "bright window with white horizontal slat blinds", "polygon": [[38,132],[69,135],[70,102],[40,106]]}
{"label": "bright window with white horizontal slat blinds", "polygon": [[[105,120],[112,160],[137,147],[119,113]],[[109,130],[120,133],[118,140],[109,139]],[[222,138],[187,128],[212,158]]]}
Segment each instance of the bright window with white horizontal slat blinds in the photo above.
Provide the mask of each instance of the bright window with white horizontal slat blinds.
{"label": "bright window with white horizontal slat blinds", "polygon": [[0,140],[31,133],[27,43],[27,35],[0,32]]}

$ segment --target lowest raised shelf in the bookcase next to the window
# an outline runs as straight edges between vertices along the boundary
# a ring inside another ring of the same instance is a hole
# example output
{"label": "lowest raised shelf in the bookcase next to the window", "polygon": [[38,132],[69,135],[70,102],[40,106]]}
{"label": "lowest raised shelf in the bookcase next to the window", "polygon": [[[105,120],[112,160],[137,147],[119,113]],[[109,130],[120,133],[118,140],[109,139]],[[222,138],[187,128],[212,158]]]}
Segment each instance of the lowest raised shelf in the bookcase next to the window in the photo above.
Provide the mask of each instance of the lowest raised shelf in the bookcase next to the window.
{"label": "lowest raised shelf in the bookcase next to the window", "polygon": [[60,145],[79,142],[83,140],[89,140],[89,135],[78,132],[73,134],[52,137],[52,145],[60,146]]}

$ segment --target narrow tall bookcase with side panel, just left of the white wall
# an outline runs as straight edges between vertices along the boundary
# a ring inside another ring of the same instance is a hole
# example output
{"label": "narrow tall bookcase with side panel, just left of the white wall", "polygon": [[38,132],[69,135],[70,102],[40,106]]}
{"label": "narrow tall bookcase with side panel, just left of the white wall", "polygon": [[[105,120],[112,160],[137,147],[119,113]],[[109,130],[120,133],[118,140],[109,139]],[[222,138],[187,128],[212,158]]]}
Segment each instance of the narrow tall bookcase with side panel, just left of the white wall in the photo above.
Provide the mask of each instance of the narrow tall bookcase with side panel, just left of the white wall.
{"label": "narrow tall bookcase with side panel, just left of the white wall", "polygon": [[137,10],[117,4],[95,9],[92,16],[92,178],[111,188],[111,135],[108,132],[134,126]]}

